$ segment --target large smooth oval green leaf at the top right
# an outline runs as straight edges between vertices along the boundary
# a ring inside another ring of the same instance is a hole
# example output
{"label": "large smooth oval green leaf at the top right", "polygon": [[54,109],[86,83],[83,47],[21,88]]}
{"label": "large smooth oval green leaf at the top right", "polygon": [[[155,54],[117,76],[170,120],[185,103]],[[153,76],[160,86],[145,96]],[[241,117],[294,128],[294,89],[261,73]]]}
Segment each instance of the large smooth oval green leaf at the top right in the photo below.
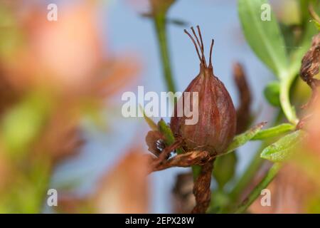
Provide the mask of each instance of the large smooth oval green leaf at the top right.
{"label": "large smooth oval green leaf at the top right", "polygon": [[[245,38],[255,54],[277,75],[287,70],[284,38],[277,19],[270,11],[270,21],[262,21],[267,10],[266,0],[239,0],[238,11]],[[270,5],[269,5],[270,6]]]}

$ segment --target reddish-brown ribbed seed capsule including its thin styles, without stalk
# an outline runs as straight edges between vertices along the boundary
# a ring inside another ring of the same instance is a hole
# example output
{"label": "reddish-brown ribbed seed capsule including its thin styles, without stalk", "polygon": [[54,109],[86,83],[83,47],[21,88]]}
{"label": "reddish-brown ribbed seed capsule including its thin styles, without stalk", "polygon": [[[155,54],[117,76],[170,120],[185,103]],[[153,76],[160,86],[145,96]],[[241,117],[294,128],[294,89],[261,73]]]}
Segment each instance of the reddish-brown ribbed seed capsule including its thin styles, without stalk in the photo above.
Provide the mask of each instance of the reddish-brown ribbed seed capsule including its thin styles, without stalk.
{"label": "reddish-brown ribbed seed capsule including its thin styles, without stalk", "polygon": [[[210,47],[209,65],[207,66],[203,53],[201,31],[199,26],[197,28],[201,42],[199,42],[198,36],[196,36],[196,32],[192,27],[191,30],[196,37],[201,52],[199,52],[197,43],[191,34],[186,30],[185,32],[196,46],[196,51],[201,61],[200,73],[191,81],[183,94],[186,92],[191,94],[192,92],[198,92],[198,122],[194,125],[187,125],[186,119],[188,117],[186,115],[178,117],[176,105],[170,125],[174,134],[183,138],[186,151],[206,150],[211,156],[215,156],[225,152],[230,141],[233,140],[236,128],[236,113],[228,90],[213,74],[211,63],[213,40]],[[182,98],[183,96],[180,99]],[[192,107],[192,102],[190,105],[191,110],[193,110],[195,107]]]}

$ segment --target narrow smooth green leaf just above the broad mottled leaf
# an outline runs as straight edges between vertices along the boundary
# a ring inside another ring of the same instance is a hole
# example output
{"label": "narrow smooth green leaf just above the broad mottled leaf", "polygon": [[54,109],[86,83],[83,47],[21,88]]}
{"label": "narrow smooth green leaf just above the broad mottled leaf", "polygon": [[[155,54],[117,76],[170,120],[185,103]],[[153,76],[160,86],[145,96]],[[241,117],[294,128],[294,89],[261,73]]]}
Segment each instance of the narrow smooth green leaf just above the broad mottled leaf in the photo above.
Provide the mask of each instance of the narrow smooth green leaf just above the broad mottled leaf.
{"label": "narrow smooth green leaf just above the broad mottled leaf", "polygon": [[294,128],[295,128],[295,126],[290,123],[282,123],[282,124],[277,125],[275,127],[261,130],[251,140],[264,140],[266,138],[277,137],[277,136],[282,135],[284,133],[287,133],[291,130],[294,130]]}

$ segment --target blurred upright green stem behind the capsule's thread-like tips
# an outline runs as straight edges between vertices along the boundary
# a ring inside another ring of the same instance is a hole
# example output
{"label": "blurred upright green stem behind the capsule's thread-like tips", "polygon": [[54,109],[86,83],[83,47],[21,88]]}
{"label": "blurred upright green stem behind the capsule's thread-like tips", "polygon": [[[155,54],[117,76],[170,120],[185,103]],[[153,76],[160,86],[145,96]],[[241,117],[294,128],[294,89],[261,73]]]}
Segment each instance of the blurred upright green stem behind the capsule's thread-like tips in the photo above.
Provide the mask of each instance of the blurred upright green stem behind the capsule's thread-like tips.
{"label": "blurred upright green stem behind the capsule's thread-like tips", "polygon": [[164,80],[166,81],[166,87],[171,92],[176,92],[176,86],[171,73],[171,63],[169,56],[168,41],[166,38],[166,15],[156,14],[154,16],[154,26],[156,28],[156,36],[158,38],[162,68],[164,72]]}

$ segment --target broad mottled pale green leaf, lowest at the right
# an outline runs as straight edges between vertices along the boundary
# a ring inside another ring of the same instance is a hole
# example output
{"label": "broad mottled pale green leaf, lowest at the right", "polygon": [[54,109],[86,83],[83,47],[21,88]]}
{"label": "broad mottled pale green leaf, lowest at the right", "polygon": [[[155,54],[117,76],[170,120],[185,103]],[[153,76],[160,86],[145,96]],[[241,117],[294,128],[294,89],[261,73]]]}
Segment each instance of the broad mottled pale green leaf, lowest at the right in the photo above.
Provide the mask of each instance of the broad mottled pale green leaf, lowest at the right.
{"label": "broad mottled pale green leaf, lowest at the right", "polygon": [[297,130],[294,133],[285,135],[272,145],[262,150],[260,157],[272,162],[284,162],[294,152],[294,147],[304,138],[304,132]]}

